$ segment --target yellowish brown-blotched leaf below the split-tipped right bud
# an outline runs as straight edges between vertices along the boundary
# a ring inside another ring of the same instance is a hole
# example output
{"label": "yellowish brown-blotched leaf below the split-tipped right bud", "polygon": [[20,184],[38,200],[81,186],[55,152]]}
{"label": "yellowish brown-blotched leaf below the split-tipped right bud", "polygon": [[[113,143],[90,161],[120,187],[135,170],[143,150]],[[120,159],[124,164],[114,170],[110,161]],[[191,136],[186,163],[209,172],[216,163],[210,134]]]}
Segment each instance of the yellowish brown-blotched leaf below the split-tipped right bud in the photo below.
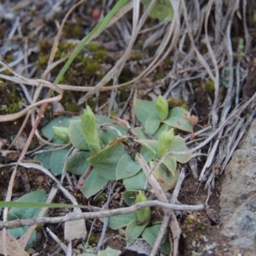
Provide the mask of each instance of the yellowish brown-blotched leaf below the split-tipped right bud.
{"label": "yellowish brown-blotched leaf below the split-tipped right bud", "polygon": [[[151,168],[153,168],[155,165],[156,165],[156,162],[154,161],[150,162]],[[179,170],[176,169],[174,174],[175,175],[173,175],[173,173],[168,170],[165,164],[161,164],[154,171],[154,175],[164,192],[174,188],[179,178]]]}

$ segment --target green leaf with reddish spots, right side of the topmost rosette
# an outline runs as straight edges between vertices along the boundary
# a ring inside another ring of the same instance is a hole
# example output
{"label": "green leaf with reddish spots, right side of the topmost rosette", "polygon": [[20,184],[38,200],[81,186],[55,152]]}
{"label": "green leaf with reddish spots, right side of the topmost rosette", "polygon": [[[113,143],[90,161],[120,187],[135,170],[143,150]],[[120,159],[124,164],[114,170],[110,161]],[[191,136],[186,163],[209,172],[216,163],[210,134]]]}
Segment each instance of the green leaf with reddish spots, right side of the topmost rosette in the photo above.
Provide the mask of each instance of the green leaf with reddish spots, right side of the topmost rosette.
{"label": "green leaf with reddish spots, right side of the topmost rosette", "polygon": [[184,108],[172,108],[169,112],[168,118],[163,122],[164,124],[178,128],[182,131],[193,132],[191,116]]}

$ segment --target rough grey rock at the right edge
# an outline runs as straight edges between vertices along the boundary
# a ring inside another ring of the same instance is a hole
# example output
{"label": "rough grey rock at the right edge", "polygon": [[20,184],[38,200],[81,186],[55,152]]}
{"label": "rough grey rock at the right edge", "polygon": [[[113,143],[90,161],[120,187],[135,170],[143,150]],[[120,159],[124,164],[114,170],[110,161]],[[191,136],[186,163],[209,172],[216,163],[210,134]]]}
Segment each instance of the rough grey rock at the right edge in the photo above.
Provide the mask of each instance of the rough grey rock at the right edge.
{"label": "rough grey rock at the right edge", "polygon": [[244,255],[256,255],[256,120],[227,165],[221,187],[221,234],[230,246],[251,250]]}

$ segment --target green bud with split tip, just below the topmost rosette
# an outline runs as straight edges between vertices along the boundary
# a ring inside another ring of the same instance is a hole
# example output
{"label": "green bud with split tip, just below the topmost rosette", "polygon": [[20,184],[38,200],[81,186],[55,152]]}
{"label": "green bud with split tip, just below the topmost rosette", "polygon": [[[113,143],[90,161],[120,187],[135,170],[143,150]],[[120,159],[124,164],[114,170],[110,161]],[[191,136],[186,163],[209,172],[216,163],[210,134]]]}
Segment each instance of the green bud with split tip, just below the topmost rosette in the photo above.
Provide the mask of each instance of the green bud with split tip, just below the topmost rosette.
{"label": "green bud with split tip, just below the topmost rosette", "polygon": [[173,128],[168,131],[168,128],[164,129],[163,132],[159,135],[157,141],[157,149],[159,158],[163,157],[164,154],[168,151],[168,148],[172,146],[174,140]]}

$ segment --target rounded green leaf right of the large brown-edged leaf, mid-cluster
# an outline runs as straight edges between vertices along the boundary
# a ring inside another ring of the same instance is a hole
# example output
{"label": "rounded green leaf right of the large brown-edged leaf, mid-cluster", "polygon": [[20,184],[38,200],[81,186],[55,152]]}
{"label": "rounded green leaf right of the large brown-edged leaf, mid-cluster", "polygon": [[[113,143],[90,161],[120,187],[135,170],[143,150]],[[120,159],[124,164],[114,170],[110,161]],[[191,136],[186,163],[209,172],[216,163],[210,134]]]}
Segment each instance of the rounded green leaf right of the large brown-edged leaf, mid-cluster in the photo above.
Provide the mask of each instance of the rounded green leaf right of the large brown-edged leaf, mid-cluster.
{"label": "rounded green leaf right of the large brown-edged leaf, mid-cluster", "polygon": [[135,163],[130,155],[124,154],[116,166],[116,179],[120,180],[132,177],[138,173],[140,169],[141,166],[139,163]]}

